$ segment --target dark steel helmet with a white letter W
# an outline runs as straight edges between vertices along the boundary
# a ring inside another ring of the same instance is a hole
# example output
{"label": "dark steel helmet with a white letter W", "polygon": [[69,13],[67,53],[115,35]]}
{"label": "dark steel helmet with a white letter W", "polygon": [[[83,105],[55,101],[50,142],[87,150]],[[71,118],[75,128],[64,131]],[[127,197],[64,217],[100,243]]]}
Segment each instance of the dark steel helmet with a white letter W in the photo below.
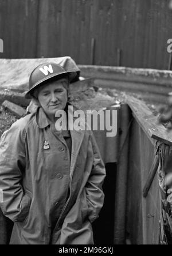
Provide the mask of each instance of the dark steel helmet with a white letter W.
{"label": "dark steel helmet with a white letter W", "polygon": [[69,82],[71,82],[77,75],[75,71],[66,71],[62,66],[53,63],[47,62],[37,66],[29,77],[29,90],[25,95],[26,99],[30,99],[31,94],[35,88],[40,86],[42,82],[49,80],[52,77],[58,77],[62,74],[68,74]]}

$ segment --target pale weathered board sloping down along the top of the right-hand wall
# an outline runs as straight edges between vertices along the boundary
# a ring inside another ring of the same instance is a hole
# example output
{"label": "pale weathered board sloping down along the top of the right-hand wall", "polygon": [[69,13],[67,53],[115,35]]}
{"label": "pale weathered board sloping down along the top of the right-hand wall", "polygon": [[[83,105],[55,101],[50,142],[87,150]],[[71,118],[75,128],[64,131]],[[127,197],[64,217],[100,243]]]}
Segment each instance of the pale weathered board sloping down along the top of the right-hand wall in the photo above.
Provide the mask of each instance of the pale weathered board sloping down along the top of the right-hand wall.
{"label": "pale weathered board sloping down along the top of the right-hand wall", "polygon": [[151,142],[154,144],[152,139],[155,139],[171,146],[172,138],[170,134],[167,133],[163,125],[158,124],[157,116],[153,115],[146,104],[133,96],[127,96],[126,100],[132,110],[132,115],[134,115],[136,121],[142,127]]}

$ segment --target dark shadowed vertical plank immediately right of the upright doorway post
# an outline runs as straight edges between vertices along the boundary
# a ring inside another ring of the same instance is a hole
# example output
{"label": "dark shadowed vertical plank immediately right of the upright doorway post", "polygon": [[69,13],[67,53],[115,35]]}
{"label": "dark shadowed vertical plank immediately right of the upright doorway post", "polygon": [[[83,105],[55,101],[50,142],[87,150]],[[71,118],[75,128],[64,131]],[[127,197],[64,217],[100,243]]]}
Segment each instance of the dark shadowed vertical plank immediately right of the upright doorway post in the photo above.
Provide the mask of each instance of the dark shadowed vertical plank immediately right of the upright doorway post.
{"label": "dark shadowed vertical plank immediately right of the upright doorway post", "polygon": [[126,236],[131,240],[132,244],[142,244],[143,242],[139,144],[138,125],[134,120],[130,129],[126,211]]}

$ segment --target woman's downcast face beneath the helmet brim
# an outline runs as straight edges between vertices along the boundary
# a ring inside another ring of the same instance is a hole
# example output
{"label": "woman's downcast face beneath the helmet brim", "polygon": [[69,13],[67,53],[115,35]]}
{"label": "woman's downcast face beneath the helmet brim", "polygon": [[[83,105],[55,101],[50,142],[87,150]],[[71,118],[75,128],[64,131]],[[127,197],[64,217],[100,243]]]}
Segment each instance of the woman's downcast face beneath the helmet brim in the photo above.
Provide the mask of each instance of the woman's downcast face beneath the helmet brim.
{"label": "woman's downcast face beneath the helmet brim", "polygon": [[38,101],[50,119],[55,118],[57,110],[64,110],[68,101],[68,78],[49,82],[38,89]]}

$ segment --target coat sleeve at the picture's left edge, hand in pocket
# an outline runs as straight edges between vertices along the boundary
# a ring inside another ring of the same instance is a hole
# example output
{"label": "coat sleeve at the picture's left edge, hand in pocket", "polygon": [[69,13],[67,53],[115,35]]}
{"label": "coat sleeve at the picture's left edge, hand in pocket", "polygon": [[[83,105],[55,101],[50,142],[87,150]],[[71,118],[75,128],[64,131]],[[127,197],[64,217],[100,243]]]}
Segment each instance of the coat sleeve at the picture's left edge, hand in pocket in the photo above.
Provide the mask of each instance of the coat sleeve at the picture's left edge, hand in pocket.
{"label": "coat sleeve at the picture's left edge, hand in pocket", "polygon": [[21,185],[24,170],[24,132],[14,123],[3,133],[0,142],[0,206],[12,221],[23,221],[30,206],[31,199]]}

